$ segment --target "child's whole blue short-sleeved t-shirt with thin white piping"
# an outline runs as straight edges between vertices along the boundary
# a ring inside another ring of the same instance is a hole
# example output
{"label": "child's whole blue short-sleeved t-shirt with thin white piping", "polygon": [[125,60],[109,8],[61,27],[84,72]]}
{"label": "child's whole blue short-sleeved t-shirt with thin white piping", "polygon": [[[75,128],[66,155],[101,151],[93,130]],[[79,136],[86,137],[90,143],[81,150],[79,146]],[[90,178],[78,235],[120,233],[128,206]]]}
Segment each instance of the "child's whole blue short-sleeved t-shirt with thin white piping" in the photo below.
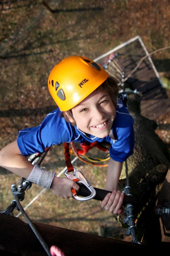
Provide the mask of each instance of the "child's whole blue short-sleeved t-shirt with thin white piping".
{"label": "child's whole blue short-sleeved t-shirt with thin white piping", "polygon": [[41,125],[19,131],[17,143],[22,155],[29,156],[44,152],[45,148],[60,145],[63,142],[102,142],[111,143],[110,156],[118,162],[125,161],[133,153],[134,129],[133,118],[122,103],[116,108],[116,117],[112,125],[113,136],[98,138],[82,132],[77,126],[72,126],[60,117],[60,109],[49,113]]}

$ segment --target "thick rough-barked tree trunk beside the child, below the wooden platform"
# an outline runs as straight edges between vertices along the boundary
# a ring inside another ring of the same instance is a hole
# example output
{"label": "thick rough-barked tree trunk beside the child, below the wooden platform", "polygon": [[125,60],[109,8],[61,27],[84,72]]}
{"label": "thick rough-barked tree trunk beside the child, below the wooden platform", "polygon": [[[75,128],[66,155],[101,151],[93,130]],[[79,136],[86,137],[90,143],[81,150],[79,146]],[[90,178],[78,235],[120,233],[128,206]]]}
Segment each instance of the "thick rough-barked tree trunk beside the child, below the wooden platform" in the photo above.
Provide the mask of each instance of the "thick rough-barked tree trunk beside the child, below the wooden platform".
{"label": "thick rough-barked tree trunk beside the child, below the wooden platform", "polygon": [[[129,186],[131,187],[132,196],[142,201],[139,208],[134,209],[133,212],[136,221],[138,219],[137,230],[139,233],[141,232],[142,237],[146,229],[145,225],[151,223],[151,220],[153,222],[152,228],[158,225],[157,218],[153,218],[153,215],[155,216],[154,205],[159,193],[160,184],[163,183],[168,171],[169,152],[163,141],[154,132],[157,126],[156,122],[141,116],[138,96],[131,95],[128,103],[128,110],[134,118],[135,130],[134,153],[127,160]],[[122,179],[120,180],[121,186],[125,186],[125,177],[124,163],[120,177]],[[156,229],[158,229],[158,226]],[[153,231],[153,241],[155,242],[159,239],[158,232],[155,231],[154,233]]]}

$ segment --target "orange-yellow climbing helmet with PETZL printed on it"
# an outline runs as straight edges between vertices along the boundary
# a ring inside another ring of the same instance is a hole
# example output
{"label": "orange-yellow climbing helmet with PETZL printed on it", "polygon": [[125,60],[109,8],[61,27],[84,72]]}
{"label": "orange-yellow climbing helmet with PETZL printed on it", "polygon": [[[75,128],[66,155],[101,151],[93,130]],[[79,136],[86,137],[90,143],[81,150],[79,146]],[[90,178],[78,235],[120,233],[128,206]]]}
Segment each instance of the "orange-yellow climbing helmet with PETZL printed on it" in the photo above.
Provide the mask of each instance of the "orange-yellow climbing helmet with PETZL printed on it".
{"label": "orange-yellow climbing helmet with PETZL printed on it", "polygon": [[70,56],[51,71],[48,88],[61,111],[72,109],[108,77],[108,73],[86,57]]}

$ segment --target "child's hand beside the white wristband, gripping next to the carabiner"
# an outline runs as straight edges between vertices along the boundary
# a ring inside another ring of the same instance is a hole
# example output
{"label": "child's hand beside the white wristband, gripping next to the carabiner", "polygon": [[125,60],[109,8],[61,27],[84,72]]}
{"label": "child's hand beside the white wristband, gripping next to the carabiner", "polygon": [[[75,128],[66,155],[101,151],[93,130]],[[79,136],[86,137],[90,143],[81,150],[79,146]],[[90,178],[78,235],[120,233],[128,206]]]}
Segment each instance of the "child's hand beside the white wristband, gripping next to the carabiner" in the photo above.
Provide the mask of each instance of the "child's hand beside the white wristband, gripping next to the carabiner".
{"label": "child's hand beside the white wristband, gripping next to the carabiner", "polygon": [[54,179],[51,183],[50,187],[57,197],[61,198],[69,198],[73,197],[71,188],[75,188],[75,190],[79,190],[79,186],[74,181],[67,178],[59,178],[54,176]]}

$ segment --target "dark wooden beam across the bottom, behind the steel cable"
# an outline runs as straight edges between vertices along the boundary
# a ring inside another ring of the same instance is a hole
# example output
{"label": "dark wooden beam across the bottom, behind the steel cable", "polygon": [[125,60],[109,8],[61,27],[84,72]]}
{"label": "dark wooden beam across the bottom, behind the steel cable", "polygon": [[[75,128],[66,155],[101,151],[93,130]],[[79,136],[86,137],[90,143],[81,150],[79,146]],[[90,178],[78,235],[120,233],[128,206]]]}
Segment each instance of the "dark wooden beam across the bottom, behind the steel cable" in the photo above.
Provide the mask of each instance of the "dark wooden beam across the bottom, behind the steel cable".
{"label": "dark wooden beam across the bottom, behind the steel cable", "polygon": [[[113,255],[113,253],[147,252],[149,246],[129,243],[111,238],[34,223],[49,247],[57,245],[66,256]],[[159,248],[166,244],[159,244]],[[152,248],[152,252],[157,250]],[[21,219],[0,214],[0,255],[45,256],[43,247],[28,224]]]}

